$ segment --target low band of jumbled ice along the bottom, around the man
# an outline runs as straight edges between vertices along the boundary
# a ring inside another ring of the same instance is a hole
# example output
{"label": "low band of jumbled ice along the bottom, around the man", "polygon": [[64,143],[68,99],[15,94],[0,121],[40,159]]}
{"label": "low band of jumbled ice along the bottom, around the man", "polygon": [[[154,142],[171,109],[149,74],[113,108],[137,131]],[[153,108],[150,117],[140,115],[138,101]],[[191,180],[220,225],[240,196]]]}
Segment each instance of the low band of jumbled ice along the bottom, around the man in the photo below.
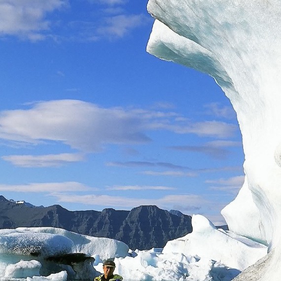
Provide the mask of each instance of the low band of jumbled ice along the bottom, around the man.
{"label": "low band of jumbled ice along the bottom, around the man", "polygon": [[[59,228],[2,229],[0,280],[92,281],[103,272],[103,261],[109,257],[115,261],[115,273],[128,281],[230,281],[267,251],[262,244],[216,230],[201,215],[194,215],[192,223],[192,235],[171,241],[164,249],[143,251]],[[73,258],[71,253],[74,258],[86,254],[95,261],[66,263],[66,257]]]}

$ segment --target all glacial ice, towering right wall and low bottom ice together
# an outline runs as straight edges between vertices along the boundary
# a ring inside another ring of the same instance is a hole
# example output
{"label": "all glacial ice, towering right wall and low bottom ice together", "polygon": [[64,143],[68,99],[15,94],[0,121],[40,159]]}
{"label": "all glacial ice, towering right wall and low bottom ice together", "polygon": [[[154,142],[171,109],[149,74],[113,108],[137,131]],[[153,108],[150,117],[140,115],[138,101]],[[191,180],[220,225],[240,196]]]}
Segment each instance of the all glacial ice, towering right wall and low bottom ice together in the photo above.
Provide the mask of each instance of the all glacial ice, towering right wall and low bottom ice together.
{"label": "all glacial ice, towering right wall and low bottom ice together", "polygon": [[62,229],[2,230],[1,280],[66,280],[69,268],[38,276],[41,257],[79,252],[96,259],[95,274],[105,258],[114,258],[115,272],[127,281],[230,281],[267,248],[270,258],[255,281],[280,279],[280,0],[149,0],[147,8],[156,19],[147,51],[214,77],[237,112],[245,183],[222,210],[233,232],[194,215],[192,234],[163,249],[133,252],[121,242]]}

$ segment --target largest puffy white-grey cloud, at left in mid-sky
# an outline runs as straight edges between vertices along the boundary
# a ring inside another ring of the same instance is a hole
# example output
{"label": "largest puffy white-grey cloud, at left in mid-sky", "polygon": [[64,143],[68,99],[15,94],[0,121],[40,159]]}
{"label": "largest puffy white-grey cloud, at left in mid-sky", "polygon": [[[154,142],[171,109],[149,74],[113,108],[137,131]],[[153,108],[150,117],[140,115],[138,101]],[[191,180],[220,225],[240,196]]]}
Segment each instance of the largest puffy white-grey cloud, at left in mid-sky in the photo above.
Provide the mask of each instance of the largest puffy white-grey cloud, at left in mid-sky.
{"label": "largest puffy white-grey cloud, at left in mid-sky", "polygon": [[105,143],[144,143],[143,120],[121,108],[101,108],[76,100],[35,104],[0,114],[0,138],[36,143],[62,141],[72,148],[99,151]]}

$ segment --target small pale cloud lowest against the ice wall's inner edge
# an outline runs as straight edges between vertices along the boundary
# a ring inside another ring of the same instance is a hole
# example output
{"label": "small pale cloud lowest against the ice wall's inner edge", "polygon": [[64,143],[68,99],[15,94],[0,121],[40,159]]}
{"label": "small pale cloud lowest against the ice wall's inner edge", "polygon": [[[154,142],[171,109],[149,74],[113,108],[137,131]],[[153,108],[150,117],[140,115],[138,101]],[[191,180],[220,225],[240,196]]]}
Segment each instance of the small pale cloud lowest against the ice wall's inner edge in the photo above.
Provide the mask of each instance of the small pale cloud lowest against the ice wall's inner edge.
{"label": "small pale cloud lowest against the ice wall's inner edge", "polygon": [[237,193],[242,187],[245,176],[233,176],[230,178],[219,178],[216,180],[206,180],[206,183],[211,183],[210,186],[213,190],[226,191],[229,193]]}

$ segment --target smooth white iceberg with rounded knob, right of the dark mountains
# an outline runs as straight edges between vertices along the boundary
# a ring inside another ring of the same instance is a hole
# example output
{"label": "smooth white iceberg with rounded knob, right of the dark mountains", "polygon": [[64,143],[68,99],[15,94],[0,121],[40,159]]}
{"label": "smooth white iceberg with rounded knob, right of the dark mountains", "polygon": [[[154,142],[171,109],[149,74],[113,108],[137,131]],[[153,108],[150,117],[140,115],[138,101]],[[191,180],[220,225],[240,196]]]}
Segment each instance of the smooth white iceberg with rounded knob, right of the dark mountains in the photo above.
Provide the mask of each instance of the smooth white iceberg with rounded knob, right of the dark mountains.
{"label": "smooth white iceberg with rounded knob, right of the dark mountains", "polygon": [[202,215],[192,216],[192,227],[192,233],[169,241],[163,253],[198,255],[241,271],[267,254],[266,246],[260,246],[246,238],[239,241],[237,237],[217,230],[211,221]]}

